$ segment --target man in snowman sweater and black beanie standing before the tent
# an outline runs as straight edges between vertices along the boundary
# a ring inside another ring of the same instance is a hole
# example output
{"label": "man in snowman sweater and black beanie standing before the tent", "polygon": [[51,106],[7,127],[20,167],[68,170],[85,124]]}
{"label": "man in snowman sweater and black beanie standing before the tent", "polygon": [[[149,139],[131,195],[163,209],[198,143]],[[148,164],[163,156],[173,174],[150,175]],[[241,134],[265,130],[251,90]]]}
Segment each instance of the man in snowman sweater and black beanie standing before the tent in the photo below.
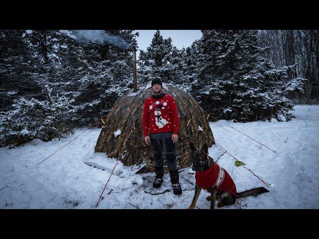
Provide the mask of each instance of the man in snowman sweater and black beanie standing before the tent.
{"label": "man in snowman sweater and black beanie standing before the tent", "polygon": [[160,188],[163,182],[163,159],[161,157],[163,149],[173,193],[181,194],[175,156],[175,143],[178,140],[179,129],[177,106],[173,97],[162,93],[162,83],[159,77],[152,79],[152,89],[154,94],[144,102],[142,124],[145,142],[149,146],[152,143],[154,149],[156,177],[153,187]]}

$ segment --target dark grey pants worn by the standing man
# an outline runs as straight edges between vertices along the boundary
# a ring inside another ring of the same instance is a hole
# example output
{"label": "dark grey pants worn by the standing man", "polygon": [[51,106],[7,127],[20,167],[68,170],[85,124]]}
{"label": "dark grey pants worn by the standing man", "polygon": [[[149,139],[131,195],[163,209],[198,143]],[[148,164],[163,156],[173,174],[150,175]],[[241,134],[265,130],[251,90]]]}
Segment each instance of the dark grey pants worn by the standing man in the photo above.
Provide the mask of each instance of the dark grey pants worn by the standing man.
{"label": "dark grey pants worn by the standing man", "polygon": [[177,170],[175,143],[171,140],[173,132],[151,133],[151,143],[154,149],[154,164],[156,167],[163,166],[161,151],[164,150],[169,170]]}

